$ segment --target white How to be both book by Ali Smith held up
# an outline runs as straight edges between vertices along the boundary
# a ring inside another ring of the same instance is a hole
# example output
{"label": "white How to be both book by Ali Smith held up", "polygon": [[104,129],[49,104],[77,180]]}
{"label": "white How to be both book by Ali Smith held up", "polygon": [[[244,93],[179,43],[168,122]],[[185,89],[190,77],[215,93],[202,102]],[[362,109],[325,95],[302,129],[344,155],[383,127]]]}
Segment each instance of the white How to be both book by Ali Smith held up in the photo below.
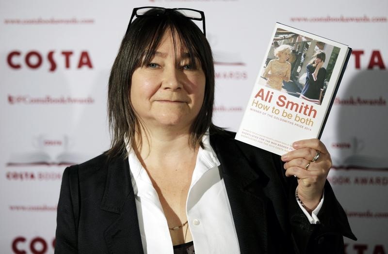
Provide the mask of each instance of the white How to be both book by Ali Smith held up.
{"label": "white How to be both book by Ali Smith held up", "polygon": [[276,23],[236,139],[283,155],[294,141],[320,138],[351,53]]}

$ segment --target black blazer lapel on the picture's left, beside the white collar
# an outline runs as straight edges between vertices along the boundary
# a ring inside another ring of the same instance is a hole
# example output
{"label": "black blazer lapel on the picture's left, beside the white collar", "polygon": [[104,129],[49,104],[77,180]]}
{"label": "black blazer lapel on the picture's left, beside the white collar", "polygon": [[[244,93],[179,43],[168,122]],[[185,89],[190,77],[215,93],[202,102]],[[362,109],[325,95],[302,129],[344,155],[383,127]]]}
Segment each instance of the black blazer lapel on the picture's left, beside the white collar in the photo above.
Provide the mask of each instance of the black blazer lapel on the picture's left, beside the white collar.
{"label": "black blazer lapel on the picture's left, beside the white collar", "polygon": [[110,161],[100,208],[114,213],[104,232],[110,253],[143,253],[128,159]]}

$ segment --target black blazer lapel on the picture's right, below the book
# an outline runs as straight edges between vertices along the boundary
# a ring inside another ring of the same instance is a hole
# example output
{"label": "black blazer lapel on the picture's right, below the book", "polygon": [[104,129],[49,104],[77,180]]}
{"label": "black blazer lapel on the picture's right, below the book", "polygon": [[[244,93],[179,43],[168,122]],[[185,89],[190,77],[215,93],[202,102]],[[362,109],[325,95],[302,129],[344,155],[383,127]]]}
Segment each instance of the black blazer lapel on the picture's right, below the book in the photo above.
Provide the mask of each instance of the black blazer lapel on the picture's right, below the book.
{"label": "black blazer lapel on the picture's right, below the book", "polygon": [[248,164],[234,137],[210,135],[210,144],[221,163],[241,253],[267,253],[268,225],[265,186],[268,178]]}

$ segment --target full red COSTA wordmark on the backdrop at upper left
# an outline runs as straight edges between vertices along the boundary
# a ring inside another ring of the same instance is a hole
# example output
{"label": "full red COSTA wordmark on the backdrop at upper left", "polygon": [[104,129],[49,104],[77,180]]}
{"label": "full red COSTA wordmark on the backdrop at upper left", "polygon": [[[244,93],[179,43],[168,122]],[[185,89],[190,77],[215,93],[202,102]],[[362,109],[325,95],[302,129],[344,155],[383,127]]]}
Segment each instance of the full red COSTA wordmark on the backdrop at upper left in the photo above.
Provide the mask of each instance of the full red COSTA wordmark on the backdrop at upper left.
{"label": "full red COSTA wordmark on the backdrop at upper left", "polygon": [[[72,66],[71,64],[72,59],[76,60],[75,66]],[[61,51],[58,55],[58,53],[56,53],[54,50],[49,51],[47,54],[35,50],[28,52],[21,52],[15,50],[11,51],[7,55],[8,66],[16,70],[21,69],[23,67],[30,69],[38,69],[42,66],[44,61],[49,62],[50,72],[53,72],[57,69],[58,62],[63,62],[65,65],[65,69],[81,69],[83,67],[87,67],[89,69],[93,68],[92,60],[87,51],[81,51],[80,53],[75,53],[74,51]]]}

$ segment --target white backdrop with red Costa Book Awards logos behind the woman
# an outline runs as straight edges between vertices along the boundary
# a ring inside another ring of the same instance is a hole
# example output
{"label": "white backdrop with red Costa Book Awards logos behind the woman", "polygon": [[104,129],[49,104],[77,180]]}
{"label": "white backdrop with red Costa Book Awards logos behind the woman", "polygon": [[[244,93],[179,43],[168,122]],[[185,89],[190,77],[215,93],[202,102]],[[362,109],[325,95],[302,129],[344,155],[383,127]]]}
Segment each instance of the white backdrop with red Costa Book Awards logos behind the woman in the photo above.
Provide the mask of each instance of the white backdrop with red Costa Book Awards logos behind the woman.
{"label": "white backdrop with red Costa Book Awards logos behind the woman", "polygon": [[[213,120],[233,131],[275,22],[352,47],[321,139],[333,160],[329,181],[358,238],[345,238],[345,253],[388,253],[388,2],[378,0],[1,1],[0,253],[54,252],[62,173],[109,148],[109,73],[140,6],[205,12],[216,63]],[[279,43],[295,50],[288,85],[298,94],[303,63],[325,45],[285,39]]]}

